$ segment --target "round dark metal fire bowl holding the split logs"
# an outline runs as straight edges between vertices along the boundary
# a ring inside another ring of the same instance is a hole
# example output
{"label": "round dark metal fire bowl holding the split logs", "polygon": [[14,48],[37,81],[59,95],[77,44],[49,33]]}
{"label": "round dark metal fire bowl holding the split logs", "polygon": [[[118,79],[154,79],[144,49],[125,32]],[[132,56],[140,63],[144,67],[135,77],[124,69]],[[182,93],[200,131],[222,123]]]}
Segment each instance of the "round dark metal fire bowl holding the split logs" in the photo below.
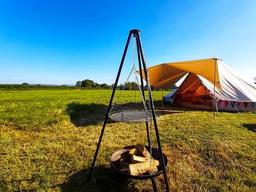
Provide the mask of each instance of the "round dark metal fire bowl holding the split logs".
{"label": "round dark metal fire bowl holding the split logs", "polygon": [[[135,146],[132,145],[132,146],[125,146],[123,149],[134,149],[134,148],[135,148]],[[149,146],[145,146],[145,148],[146,148],[146,150],[149,151]],[[122,149],[118,149],[117,151],[115,151],[114,154],[112,154],[112,157],[111,157],[111,165],[119,174],[122,174],[123,176],[126,176],[128,178],[148,179],[148,178],[154,178],[154,177],[159,176],[163,173],[163,166],[162,166],[161,160],[160,160],[159,149],[152,148],[152,157],[153,157],[153,159],[156,159],[156,160],[159,161],[159,166],[157,166],[158,171],[154,174],[146,174],[145,173],[145,174],[141,174],[139,176],[132,176],[132,175],[128,174],[128,171],[121,171],[120,164],[119,164],[119,159],[113,158],[114,156],[121,155],[120,151],[122,151]],[[163,153],[163,156],[164,156],[165,166],[167,166],[167,164],[168,164],[167,157],[164,153]]]}

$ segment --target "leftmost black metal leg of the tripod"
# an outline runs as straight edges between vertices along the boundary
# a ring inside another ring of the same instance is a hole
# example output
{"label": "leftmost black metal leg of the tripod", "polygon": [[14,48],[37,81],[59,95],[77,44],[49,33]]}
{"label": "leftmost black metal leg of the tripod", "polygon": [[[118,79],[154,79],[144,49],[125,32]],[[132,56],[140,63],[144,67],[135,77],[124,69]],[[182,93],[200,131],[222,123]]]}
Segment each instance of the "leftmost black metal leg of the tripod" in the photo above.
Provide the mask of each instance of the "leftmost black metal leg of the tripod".
{"label": "leftmost black metal leg of the tripod", "polygon": [[89,173],[89,176],[88,176],[88,180],[90,180],[91,176],[92,176],[92,171],[93,171],[93,168],[95,166],[95,161],[97,159],[97,154],[98,154],[98,151],[100,149],[100,143],[102,142],[102,137],[103,137],[103,134],[104,134],[104,131],[105,131],[105,127],[106,127],[106,124],[107,124],[107,118],[108,118],[108,114],[110,112],[110,107],[112,105],[112,101],[113,101],[113,98],[114,98],[114,92],[115,90],[117,89],[117,83],[118,83],[118,80],[119,80],[119,77],[120,77],[120,74],[121,74],[121,70],[122,70],[122,65],[124,64],[124,58],[125,58],[125,55],[127,53],[127,48],[129,46],[129,41],[131,39],[131,36],[132,36],[132,32],[130,31],[129,32],[129,36],[127,38],[127,43],[125,45],[125,48],[124,48],[124,53],[122,55],[122,60],[121,60],[121,63],[120,63],[120,66],[119,66],[119,70],[118,70],[118,73],[117,73],[117,78],[116,78],[116,81],[114,82],[114,88],[113,88],[113,91],[112,91],[112,95],[111,95],[111,98],[110,98],[110,104],[107,108],[107,113],[106,113],[106,116],[105,116],[105,121],[104,121],[104,124],[102,126],[102,132],[100,133],[100,139],[99,139],[99,142],[97,143],[97,149],[95,151],[95,156],[92,160],[92,167],[90,169],[90,173]]}

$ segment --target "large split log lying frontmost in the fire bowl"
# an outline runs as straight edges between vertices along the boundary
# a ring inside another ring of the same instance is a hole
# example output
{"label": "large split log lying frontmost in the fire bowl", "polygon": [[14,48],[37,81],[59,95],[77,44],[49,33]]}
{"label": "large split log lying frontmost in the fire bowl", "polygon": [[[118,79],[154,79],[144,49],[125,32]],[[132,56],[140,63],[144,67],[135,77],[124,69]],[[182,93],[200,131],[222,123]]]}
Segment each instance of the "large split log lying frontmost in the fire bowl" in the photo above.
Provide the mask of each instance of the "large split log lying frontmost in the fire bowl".
{"label": "large split log lying frontmost in the fire bowl", "polygon": [[138,164],[129,164],[128,173],[132,176],[139,176],[140,174],[144,174],[147,171],[151,173],[157,171],[157,167],[159,165],[159,161],[151,160]]}

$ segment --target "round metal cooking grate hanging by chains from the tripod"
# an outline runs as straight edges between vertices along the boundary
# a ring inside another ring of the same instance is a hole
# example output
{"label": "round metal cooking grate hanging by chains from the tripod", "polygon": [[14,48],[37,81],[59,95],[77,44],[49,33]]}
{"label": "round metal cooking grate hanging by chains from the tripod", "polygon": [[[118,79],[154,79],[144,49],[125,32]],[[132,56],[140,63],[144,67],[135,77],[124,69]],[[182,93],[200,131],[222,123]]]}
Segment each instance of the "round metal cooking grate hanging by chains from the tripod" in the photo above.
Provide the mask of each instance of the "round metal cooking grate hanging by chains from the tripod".
{"label": "round metal cooking grate hanging by chains from the tripod", "polygon": [[[156,118],[160,116],[161,114],[156,112]],[[119,110],[110,112],[109,117],[114,122],[149,122],[152,120],[152,114],[142,110]]]}

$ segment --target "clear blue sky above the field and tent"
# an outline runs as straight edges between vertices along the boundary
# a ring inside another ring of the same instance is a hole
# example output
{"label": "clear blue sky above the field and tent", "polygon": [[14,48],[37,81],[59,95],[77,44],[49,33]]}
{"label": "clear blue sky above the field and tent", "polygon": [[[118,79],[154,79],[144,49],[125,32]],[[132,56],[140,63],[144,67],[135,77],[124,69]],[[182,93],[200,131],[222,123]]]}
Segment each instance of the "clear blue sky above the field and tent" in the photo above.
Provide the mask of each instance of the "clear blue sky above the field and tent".
{"label": "clear blue sky above the field and tent", "polygon": [[0,83],[112,84],[132,28],[142,31],[149,66],[218,56],[256,76],[254,0],[1,0]]}

